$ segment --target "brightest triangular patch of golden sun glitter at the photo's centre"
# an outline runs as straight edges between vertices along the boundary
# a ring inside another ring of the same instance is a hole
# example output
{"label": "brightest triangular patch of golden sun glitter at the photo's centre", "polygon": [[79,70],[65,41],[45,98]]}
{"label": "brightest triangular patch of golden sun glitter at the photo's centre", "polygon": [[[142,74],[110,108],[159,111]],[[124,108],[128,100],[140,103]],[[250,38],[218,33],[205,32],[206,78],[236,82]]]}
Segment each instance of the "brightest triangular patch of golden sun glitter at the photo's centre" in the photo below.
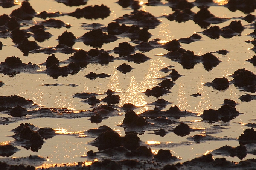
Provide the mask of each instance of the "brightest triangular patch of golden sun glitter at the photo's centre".
{"label": "brightest triangular patch of golden sun glitter at the photo's centre", "polygon": [[120,95],[122,99],[119,102],[119,106],[123,106],[125,103],[131,103],[135,106],[143,106],[146,104],[146,99],[140,94],[138,90],[138,83],[135,81],[134,75],[131,77],[130,85],[125,93]]}

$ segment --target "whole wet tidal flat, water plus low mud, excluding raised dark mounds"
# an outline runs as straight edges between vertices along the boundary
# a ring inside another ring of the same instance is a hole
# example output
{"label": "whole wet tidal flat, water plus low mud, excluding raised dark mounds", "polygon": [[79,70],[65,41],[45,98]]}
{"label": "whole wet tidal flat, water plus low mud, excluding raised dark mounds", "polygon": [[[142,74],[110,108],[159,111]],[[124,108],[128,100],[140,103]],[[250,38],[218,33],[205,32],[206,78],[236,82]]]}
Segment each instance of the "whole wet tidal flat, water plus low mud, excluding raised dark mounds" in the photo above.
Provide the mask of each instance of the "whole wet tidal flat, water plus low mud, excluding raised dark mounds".
{"label": "whole wet tidal flat, water plus low mud, excluding raised dark mounds", "polygon": [[[4,1],[0,2],[2,4]],[[84,51],[89,51],[96,48],[104,49],[109,55],[113,55],[114,58],[111,62],[107,63],[88,62],[86,66],[80,68],[80,71],[67,75],[52,76],[52,74],[47,74],[46,66],[43,64],[46,62],[47,57],[52,54],[36,53],[35,51],[23,53],[17,48],[18,43],[13,42],[12,36],[2,36],[0,38],[3,44],[2,50],[0,50],[0,62],[5,62],[7,57],[16,56],[20,58],[22,63],[31,62],[37,64],[39,67],[36,71],[16,71],[16,74],[0,74],[0,81],[4,83],[0,87],[1,96],[17,95],[34,102],[33,105],[22,106],[28,112],[32,111],[22,117],[12,117],[8,115],[8,110],[1,110],[0,143],[2,145],[12,144],[19,150],[9,157],[0,156],[0,161],[5,161],[9,165],[24,164],[33,165],[37,168],[47,168],[54,167],[55,165],[61,166],[61,164],[72,166],[76,165],[77,162],[84,162],[84,165],[90,165],[93,161],[102,161],[103,159],[112,159],[114,161],[123,159],[141,160],[137,157],[127,158],[123,154],[121,156],[110,156],[107,154],[103,154],[102,156],[102,154],[98,154],[95,158],[87,156],[88,151],[93,150],[93,152],[98,152],[98,148],[89,144],[96,136],[89,135],[86,131],[103,125],[110,127],[120,136],[125,136],[127,132],[131,131],[137,132],[140,138],[140,146],[150,147],[153,153],[152,157],[143,158],[142,160],[144,161],[153,161],[153,156],[160,149],[170,150],[172,155],[177,157],[175,160],[168,160],[160,165],[154,166],[153,164],[147,164],[145,169],[163,169],[166,164],[184,163],[208,153],[212,153],[214,159],[226,158],[228,161],[236,162],[236,164],[240,161],[255,158],[253,144],[245,145],[247,147],[247,155],[242,159],[236,156],[230,156],[229,154],[212,152],[225,145],[232,147],[239,146],[239,136],[245,129],[253,127],[253,123],[256,120],[254,111],[256,101],[253,99],[251,101],[242,101],[239,99],[242,95],[254,95],[255,91],[248,92],[243,87],[235,86],[232,81],[234,78],[230,76],[234,74],[234,71],[242,68],[254,74],[256,73],[254,65],[247,61],[255,55],[253,51],[254,45],[249,42],[254,40],[253,36],[249,34],[254,32],[255,19],[251,22],[244,20],[244,17],[248,14],[255,15],[254,11],[242,12],[237,9],[232,12],[225,6],[228,1],[217,0],[214,3],[205,4],[204,2],[194,2],[191,11],[195,14],[200,11],[200,8],[203,8],[202,5],[208,5],[208,10],[211,14],[215,15],[215,17],[225,19],[221,23],[210,23],[200,26],[192,19],[193,16],[189,20],[182,22],[177,22],[175,19],[173,21],[168,20],[166,16],[175,12],[171,8],[171,2],[162,0],[160,2],[155,1],[155,4],[149,5],[147,4],[148,1],[139,1],[140,8],[138,11],[149,12],[160,22],[154,28],[148,29],[151,36],[146,41],[155,40],[158,46],[152,48],[150,51],[140,51],[135,47],[135,51],[131,53],[142,53],[150,58],[149,60],[138,63],[123,59],[128,54],[119,56],[119,54],[114,53],[114,48],[118,47],[119,43],[128,42],[130,45],[135,46],[142,42],[136,38],[130,39],[124,35],[116,35],[117,39],[115,41],[103,43],[102,45],[86,45],[83,41],[78,40],[79,37],[96,28],[102,28],[104,33],[109,34],[104,30],[104,27],[107,27],[109,23],[114,22],[114,20],[125,14],[132,14],[134,9],[131,5],[123,8],[115,0],[88,0],[84,1],[86,4],[80,6],[67,6],[61,3],[66,2],[64,0],[30,0],[28,2],[37,14],[43,11],[59,11],[63,15],[54,18],[71,26],[61,28],[45,26],[45,31],[52,34],[52,36],[43,42],[36,41],[40,46],[39,49],[55,47],[59,44],[58,37],[67,31],[72,32],[77,38],[75,44],[72,45],[74,50],[83,49]],[[190,0],[189,2],[192,3],[193,1]],[[13,10],[21,7],[21,3],[15,1],[15,5],[9,8],[0,6],[0,15],[10,15]],[[67,15],[76,11],[77,8],[82,9],[86,6],[94,5],[101,6],[102,4],[110,9],[109,15],[106,17],[87,19],[85,17],[76,18]],[[26,30],[26,32],[32,34],[28,29],[45,20],[49,20],[49,17],[43,19],[34,16],[32,20],[18,20],[18,22],[20,23],[20,30]],[[244,29],[240,33],[234,33],[228,38],[222,35],[213,38],[203,33],[203,31],[213,26],[219,26],[220,28],[229,26],[232,21],[241,21]],[[132,26],[136,23],[125,20],[122,23],[120,22],[121,24]],[[140,26],[140,29],[142,28],[143,26]],[[3,29],[3,26],[1,29]],[[9,32],[12,33],[11,30]],[[179,40],[190,37],[195,33],[201,36],[201,39],[197,39],[189,44],[180,41],[180,47],[192,51],[197,55],[200,58],[198,62],[192,66],[184,66],[181,64],[180,58],[169,59],[166,57],[165,54],[168,54],[170,50],[166,50],[162,45],[175,39]],[[35,38],[29,36],[28,40],[35,41]],[[217,53],[217,51],[222,49],[226,49],[228,53]],[[221,62],[212,66],[210,69],[206,68],[201,61],[202,56],[206,53],[212,53]],[[53,54],[60,61],[59,66],[64,67],[69,64],[67,59],[73,56],[74,52],[69,54],[55,52]],[[125,74],[117,70],[117,67],[123,63],[129,64],[133,69]],[[166,72],[160,71],[165,67],[168,68]],[[175,69],[181,75],[177,80],[166,77],[172,72],[172,69]],[[85,77],[90,72],[96,74],[105,73],[110,75],[110,77],[95,79]],[[228,87],[218,89],[205,85],[207,82],[212,82],[215,78],[223,77],[228,79]],[[173,87],[168,89],[170,93],[161,94],[157,97],[147,96],[144,93],[147,89],[151,90],[153,87],[158,86],[158,83],[162,82],[165,78],[173,80]],[[252,83],[252,86],[255,87],[255,83]],[[114,95],[120,96],[119,102],[109,104],[102,101],[102,99],[107,97],[108,89],[115,92]],[[96,98],[100,102],[90,105],[85,101],[88,98],[81,99],[73,96],[77,93],[96,93]],[[193,94],[198,95],[192,96]],[[169,103],[165,106],[151,104],[157,101],[157,99],[165,99]],[[238,104],[235,108],[241,114],[228,121],[204,120],[202,117],[204,110],[218,110],[218,108],[223,106],[224,99],[235,101]],[[181,111],[191,114],[183,115],[179,118],[165,115],[172,122],[169,124],[161,125],[161,123],[153,122],[150,116],[145,116],[149,123],[148,125],[123,126],[123,120],[127,112],[127,110],[123,109],[123,105],[126,103],[133,104],[135,106],[133,111],[138,115],[145,111],[154,110],[155,107],[166,111],[174,106],[177,106]],[[89,120],[93,115],[92,110],[99,105],[113,107],[115,109],[114,113],[102,116],[104,119],[100,123],[92,123]],[[1,107],[9,106],[1,105]],[[55,110],[55,112],[53,111],[47,115],[37,113],[37,110],[43,108],[49,108],[50,110]],[[35,152],[29,148],[22,147],[22,144],[15,142],[15,139],[12,137],[14,132],[11,130],[15,129],[21,123],[30,123],[38,128],[49,127],[54,129],[57,135],[49,139],[44,139],[41,149]],[[174,128],[180,123],[185,123],[190,127],[189,134],[178,136],[173,132]],[[248,126],[248,123],[251,123],[251,126]],[[163,137],[154,134],[160,129],[166,131]],[[195,135],[206,136],[208,138],[197,141],[192,138]],[[12,161],[12,157],[20,158],[30,155],[38,155],[44,159],[34,162],[22,161],[22,159],[21,161]],[[134,168],[140,169],[140,166]],[[177,166],[177,168],[181,169],[182,167]],[[242,167],[239,168],[243,169]],[[123,165],[123,169],[127,169],[127,166]]]}

